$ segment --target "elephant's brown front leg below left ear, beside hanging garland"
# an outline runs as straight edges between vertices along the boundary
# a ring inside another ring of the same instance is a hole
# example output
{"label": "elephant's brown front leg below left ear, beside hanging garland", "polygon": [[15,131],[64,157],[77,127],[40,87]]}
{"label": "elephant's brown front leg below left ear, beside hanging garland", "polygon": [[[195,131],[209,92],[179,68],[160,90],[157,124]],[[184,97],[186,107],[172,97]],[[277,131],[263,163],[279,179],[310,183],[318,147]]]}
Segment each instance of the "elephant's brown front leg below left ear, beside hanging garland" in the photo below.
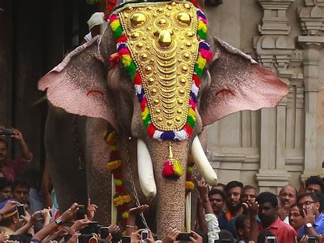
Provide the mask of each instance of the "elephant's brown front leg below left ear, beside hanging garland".
{"label": "elephant's brown front leg below left ear, beside hanging garland", "polygon": [[94,220],[100,225],[111,223],[111,173],[106,168],[110,151],[103,139],[106,129],[107,121],[101,118],[87,118],[85,129],[87,192],[91,203],[98,206]]}

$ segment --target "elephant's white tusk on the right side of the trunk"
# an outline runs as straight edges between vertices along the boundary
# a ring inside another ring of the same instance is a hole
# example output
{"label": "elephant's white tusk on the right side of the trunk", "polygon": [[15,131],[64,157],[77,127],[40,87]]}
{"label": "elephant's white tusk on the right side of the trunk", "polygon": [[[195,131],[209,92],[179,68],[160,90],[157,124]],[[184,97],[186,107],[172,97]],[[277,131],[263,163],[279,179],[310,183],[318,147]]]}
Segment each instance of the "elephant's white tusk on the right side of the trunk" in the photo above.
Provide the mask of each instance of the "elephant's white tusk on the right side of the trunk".
{"label": "elephant's white tusk on the right side of the trunk", "polygon": [[200,175],[204,177],[205,181],[209,185],[216,186],[217,175],[213,170],[213,167],[211,167],[211,164],[209,163],[206,157],[204,149],[202,149],[202,144],[200,144],[200,140],[198,136],[196,136],[193,139],[192,146],[191,146],[191,155],[193,161],[195,162],[195,166],[197,166],[197,169],[200,172]]}

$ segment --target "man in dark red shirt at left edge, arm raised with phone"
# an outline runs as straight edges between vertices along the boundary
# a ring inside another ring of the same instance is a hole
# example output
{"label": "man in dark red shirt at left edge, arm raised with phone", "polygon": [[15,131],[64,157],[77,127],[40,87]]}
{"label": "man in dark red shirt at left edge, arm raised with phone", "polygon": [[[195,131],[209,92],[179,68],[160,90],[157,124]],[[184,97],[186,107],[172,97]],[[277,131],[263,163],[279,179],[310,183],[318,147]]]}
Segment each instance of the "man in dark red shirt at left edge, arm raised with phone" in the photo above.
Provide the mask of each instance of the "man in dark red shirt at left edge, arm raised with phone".
{"label": "man in dark red shirt at left edge, arm raised with phone", "polygon": [[[0,131],[4,127],[0,127]],[[28,146],[21,134],[21,131],[18,129],[13,130],[14,134],[12,138],[15,138],[18,141],[19,148],[21,150],[21,157],[17,159],[10,160],[8,159],[8,143],[0,138],[0,168],[8,179],[14,180],[16,177],[20,176],[25,172],[28,162],[31,162],[33,155],[29,152]]]}

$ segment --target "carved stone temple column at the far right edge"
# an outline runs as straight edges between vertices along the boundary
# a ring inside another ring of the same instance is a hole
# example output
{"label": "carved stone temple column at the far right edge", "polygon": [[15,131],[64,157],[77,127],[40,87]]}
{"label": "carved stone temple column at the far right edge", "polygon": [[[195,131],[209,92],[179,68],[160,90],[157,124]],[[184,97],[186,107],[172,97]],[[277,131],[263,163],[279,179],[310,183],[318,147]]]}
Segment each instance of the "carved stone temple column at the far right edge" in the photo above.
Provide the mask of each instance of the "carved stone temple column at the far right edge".
{"label": "carved stone temple column at the far right edge", "polygon": [[319,91],[320,49],[324,44],[324,2],[305,0],[298,11],[303,36],[297,42],[303,47],[303,76],[305,84],[305,157],[301,177],[321,174],[322,161],[316,157],[317,92]]}

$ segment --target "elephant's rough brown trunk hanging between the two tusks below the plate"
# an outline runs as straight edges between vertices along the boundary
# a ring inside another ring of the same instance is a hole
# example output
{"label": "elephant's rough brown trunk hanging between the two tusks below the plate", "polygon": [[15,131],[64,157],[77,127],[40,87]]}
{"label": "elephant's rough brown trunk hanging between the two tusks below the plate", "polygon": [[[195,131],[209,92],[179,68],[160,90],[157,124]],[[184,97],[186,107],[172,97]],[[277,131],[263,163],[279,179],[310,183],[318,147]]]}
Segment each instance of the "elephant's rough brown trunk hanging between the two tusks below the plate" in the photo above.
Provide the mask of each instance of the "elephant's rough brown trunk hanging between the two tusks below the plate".
{"label": "elephant's rough brown trunk hanging between the two tusks below the plate", "polygon": [[180,231],[185,230],[185,175],[178,180],[162,177],[165,159],[169,155],[169,144],[173,155],[179,159],[183,170],[186,171],[189,140],[183,142],[146,142],[154,164],[154,177],[157,183],[157,234],[163,239],[170,227]]}

